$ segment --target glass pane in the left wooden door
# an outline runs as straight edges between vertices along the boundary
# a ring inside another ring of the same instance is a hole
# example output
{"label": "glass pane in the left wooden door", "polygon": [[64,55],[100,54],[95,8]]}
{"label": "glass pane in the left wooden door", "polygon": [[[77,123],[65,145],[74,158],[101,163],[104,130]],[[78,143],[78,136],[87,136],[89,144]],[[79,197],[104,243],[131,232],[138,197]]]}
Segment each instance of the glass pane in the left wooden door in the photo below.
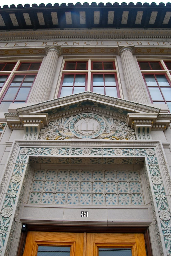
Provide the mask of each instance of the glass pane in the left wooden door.
{"label": "glass pane in the left wooden door", "polygon": [[70,247],[39,246],[37,256],[70,256]]}

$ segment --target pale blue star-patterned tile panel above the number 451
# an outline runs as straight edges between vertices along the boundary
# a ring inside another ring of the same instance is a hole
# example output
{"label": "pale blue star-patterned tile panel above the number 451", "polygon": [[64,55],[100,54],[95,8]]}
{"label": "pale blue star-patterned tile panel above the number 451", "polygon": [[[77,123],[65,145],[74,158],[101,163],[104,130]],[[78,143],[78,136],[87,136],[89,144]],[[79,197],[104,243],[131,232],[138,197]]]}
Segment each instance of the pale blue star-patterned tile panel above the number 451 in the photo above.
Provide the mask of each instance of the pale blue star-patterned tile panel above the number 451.
{"label": "pale blue star-patterned tile panel above the number 451", "polygon": [[29,204],[143,205],[139,171],[35,170]]}

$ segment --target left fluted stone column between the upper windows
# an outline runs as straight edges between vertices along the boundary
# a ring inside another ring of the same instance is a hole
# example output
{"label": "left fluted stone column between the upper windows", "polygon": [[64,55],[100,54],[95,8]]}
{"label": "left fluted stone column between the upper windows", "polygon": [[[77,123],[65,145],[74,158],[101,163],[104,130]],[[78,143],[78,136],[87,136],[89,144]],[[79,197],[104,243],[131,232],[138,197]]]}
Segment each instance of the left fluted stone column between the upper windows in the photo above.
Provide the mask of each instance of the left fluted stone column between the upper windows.
{"label": "left fluted stone column between the upper windows", "polygon": [[39,70],[27,103],[39,103],[49,99],[61,46],[46,47],[46,59]]}

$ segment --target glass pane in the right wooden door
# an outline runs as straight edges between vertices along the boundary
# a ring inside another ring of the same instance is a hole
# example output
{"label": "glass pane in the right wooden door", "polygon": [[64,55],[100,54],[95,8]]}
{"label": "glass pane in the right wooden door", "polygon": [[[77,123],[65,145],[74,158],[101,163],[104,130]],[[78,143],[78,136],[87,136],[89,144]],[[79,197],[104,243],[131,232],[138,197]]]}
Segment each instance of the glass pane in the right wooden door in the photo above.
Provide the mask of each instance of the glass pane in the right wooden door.
{"label": "glass pane in the right wooden door", "polygon": [[130,248],[99,248],[99,256],[132,256]]}

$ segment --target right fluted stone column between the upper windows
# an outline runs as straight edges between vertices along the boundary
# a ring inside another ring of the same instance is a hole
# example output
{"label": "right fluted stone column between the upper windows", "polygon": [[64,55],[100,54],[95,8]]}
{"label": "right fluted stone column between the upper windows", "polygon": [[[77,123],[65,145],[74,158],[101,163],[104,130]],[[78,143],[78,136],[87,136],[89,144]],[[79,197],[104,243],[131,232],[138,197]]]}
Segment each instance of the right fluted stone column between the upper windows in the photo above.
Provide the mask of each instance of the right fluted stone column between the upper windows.
{"label": "right fluted stone column between the upper windows", "polygon": [[148,99],[143,87],[143,82],[136,68],[132,48],[129,46],[122,47],[119,50],[119,55],[121,57],[129,100],[147,104]]}

